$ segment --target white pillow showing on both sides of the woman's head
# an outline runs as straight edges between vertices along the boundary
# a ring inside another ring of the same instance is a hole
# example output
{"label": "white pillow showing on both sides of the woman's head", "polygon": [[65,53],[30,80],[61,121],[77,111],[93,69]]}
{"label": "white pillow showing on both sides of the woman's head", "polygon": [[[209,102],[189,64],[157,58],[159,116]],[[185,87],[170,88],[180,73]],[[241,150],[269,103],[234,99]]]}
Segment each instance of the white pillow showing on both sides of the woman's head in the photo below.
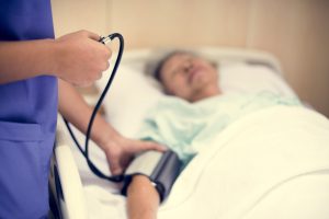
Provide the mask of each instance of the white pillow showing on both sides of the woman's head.
{"label": "white pillow showing on both sides of the woman's head", "polygon": [[[243,62],[219,65],[219,85],[224,93],[272,91],[296,96],[286,82],[266,66]],[[105,73],[106,74],[106,73]],[[110,76],[97,82],[102,91]],[[134,137],[146,112],[163,96],[158,82],[140,68],[121,65],[104,99],[109,122],[124,136]]]}

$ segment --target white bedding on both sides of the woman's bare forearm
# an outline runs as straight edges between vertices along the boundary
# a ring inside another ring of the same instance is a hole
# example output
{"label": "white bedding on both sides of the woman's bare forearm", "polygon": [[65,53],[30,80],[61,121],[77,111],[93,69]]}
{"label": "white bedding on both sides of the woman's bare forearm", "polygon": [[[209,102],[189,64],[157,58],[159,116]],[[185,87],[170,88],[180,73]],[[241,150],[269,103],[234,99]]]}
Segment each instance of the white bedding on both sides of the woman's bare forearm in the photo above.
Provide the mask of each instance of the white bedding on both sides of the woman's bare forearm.
{"label": "white bedding on both sides of the woman's bare forearm", "polygon": [[[125,198],[87,186],[90,218],[123,219]],[[227,127],[181,173],[159,219],[329,218],[329,120],[275,106]]]}

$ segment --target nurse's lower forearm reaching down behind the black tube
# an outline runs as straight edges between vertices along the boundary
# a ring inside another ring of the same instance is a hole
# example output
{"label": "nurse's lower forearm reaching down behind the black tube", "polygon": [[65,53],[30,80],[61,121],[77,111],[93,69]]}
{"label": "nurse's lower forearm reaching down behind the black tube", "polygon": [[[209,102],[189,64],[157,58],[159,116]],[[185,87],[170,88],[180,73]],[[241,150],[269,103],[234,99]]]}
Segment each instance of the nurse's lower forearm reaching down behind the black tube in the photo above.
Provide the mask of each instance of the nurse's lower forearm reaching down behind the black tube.
{"label": "nurse's lower forearm reaching down behind the black tube", "polygon": [[[60,114],[73,124],[83,134],[87,132],[92,108],[86,103],[77,90],[66,81],[58,80]],[[101,115],[97,115],[92,126],[91,139],[100,147],[105,146],[110,139],[115,139],[120,134],[110,126]]]}

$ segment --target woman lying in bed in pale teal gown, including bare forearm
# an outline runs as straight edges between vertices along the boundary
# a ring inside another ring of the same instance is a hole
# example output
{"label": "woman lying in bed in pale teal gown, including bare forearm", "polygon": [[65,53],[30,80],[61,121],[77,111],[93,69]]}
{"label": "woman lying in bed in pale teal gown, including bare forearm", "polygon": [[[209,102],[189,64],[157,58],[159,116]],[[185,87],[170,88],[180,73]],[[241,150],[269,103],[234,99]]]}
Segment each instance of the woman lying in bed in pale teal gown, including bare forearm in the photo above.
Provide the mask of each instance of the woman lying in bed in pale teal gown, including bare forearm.
{"label": "woman lying in bed in pale teal gown, including bare forearm", "polygon": [[[297,99],[270,92],[223,94],[209,61],[186,51],[169,54],[155,77],[167,97],[149,113],[138,137],[168,146],[183,163],[215,135],[251,112],[274,105],[299,105]],[[135,176],[127,191],[128,218],[156,218],[159,196],[145,176]]]}

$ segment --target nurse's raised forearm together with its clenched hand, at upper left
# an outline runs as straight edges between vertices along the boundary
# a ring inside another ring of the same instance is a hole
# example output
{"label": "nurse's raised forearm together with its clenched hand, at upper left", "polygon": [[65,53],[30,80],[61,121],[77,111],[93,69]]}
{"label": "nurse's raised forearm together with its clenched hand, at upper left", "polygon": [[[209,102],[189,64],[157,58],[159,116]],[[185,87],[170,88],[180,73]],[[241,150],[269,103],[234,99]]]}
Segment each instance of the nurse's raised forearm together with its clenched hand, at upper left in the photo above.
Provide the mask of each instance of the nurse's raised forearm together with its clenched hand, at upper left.
{"label": "nurse's raised forearm together with its clenched hand, at upper left", "polygon": [[79,31],[57,39],[0,42],[0,84],[50,74],[90,85],[109,68],[111,50],[100,36]]}

